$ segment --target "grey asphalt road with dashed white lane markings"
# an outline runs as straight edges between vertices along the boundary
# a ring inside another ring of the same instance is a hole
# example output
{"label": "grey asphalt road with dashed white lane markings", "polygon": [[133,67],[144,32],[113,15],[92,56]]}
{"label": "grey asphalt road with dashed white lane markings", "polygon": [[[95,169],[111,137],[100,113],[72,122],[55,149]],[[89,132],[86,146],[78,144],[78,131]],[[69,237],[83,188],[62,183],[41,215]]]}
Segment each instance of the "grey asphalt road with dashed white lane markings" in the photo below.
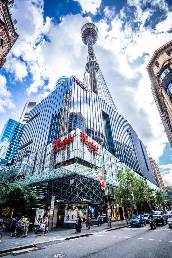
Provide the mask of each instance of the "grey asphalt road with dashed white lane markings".
{"label": "grey asphalt road with dashed white lane markings", "polygon": [[[151,230],[150,225],[133,228],[123,228],[108,232],[95,233],[88,237],[71,240],[59,240],[55,243],[43,243],[34,249],[24,249],[13,252],[19,258],[171,258],[172,257],[172,229],[165,225],[158,225]],[[11,258],[12,255],[5,255]]]}

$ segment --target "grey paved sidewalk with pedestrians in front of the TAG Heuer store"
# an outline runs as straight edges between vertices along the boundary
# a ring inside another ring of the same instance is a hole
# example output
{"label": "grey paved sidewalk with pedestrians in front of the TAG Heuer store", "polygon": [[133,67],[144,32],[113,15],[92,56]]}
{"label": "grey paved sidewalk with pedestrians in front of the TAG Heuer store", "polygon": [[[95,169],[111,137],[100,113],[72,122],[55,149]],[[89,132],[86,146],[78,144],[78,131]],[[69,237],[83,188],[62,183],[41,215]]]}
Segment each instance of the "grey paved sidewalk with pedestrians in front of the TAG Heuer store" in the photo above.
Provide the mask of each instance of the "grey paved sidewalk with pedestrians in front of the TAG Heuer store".
{"label": "grey paved sidewalk with pedestrians in front of the TAG Heuer store", "polygon": [[4,232],[3,237],[0,243],[0,254],[6,252],[12,252],[15,250],[21,250],[29,247],[34,247],[36,244],[46,243],[57,240],[69,240],[72,238],[83,237],[87,235],[93,235],[100,232],[105,232],[109,230],[115,230],[119,228],[128,227],[126,221],[114,221],[111,222],[112,228],[108,228],[108,224],[104,223],[102,226],[93,225],[88,230],[81,229],[81,233],[75,233],[75,229],[66,229],[66,228],[53,228],[52,231],[48,232],[46,236],[39,236],[35,234],[35,228],[33,227],[32,231],[28,232],[27,237],[25,238],[16,238],[9,237],[10,232]]}

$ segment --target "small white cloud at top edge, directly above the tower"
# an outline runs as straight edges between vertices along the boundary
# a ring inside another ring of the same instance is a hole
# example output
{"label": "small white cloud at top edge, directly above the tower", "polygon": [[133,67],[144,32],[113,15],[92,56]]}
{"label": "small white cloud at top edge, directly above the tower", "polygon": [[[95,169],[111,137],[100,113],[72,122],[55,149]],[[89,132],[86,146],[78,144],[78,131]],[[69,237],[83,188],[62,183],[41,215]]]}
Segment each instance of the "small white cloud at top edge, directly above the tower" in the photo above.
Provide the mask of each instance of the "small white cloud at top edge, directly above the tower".
{"label": "small white cloud at top edge, directly above the tower", "polygon": [[92,14],[96,14],[97,13],[97,9],[99,9],[100,5],[101,5],[101,0],[73,0],[73,1],[77,1],[80,3],[82,9],[83,9],[83,13],[86,12],[91,12]]}

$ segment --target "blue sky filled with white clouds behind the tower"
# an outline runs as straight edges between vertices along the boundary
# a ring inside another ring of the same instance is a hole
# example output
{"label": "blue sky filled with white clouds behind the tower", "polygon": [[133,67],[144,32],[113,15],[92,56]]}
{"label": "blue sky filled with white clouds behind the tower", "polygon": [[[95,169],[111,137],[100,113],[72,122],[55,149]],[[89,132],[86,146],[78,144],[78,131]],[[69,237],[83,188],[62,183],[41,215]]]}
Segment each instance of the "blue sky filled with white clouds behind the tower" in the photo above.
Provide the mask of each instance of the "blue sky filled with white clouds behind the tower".
{"label": "blue sky filled with white clouds behind the tower", "polygon": [[28,100],[50,94],[59,77],[83,80],[87,46],[80,30],[93,22],[94,52],[115,106],[172,186],[172,150],[146,70],[154,51],[171,40],[171,0],[15,0],[13,6],[20,37],[0,70],[0,131],[9,118],[19,120]]}

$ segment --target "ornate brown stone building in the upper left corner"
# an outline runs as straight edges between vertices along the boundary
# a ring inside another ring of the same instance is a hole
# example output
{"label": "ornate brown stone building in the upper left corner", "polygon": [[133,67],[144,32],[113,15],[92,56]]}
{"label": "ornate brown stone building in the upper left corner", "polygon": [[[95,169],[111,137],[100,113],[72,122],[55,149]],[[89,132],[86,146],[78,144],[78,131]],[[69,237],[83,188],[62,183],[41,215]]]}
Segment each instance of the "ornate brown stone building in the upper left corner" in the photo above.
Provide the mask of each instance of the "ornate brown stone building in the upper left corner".
{"label": "ornate brown stone building in the upper left corner", "polygon": [[19,37],[14,29],[17,21],[12,21],[10,14],[13,3],[14,0],[0,0],[0,69],[6,61],[5,57],[7,53]]}

